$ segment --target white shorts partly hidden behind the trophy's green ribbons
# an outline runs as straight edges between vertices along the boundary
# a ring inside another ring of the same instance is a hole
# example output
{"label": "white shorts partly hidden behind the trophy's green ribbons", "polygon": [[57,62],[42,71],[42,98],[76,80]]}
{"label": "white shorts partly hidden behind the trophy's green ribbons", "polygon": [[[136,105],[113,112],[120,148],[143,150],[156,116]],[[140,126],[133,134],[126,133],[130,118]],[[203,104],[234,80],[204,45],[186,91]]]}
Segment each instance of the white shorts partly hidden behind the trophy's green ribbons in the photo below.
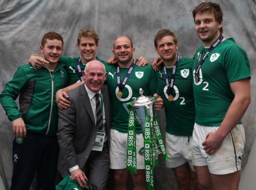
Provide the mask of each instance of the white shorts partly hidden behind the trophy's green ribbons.
{"label": "white shorts partly hidden behind the trophy's green ribbons", "polygon": [[[144,139],[142,134],[136,134],[136,157],[137,169],[145,169],[144,156],[139,154],[139,150],[144,147]],[[110,130],[109,157],[111,169],[126,168],[127,161],[127,133],[121,133],[118,130]]]}

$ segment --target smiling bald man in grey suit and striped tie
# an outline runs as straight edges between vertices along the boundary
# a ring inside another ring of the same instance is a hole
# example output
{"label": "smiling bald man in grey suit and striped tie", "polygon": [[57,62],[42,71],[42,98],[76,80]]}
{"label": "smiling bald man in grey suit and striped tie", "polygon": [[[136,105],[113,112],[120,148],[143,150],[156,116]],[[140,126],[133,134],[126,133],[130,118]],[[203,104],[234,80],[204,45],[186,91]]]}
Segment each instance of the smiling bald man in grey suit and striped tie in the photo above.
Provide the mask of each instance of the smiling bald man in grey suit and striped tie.
{"label": "smiling bald man in grey suit and striped tie", "polygon": [[58,170],[62,177],[71,174],[71,179],[81,187],[89,180],[103,190],[109,171],[111,124],[108,88],[103,85],[107,73],[104,64],[92,60],[82,75],[85,84],[68,93],[70,107],[59,110]]}

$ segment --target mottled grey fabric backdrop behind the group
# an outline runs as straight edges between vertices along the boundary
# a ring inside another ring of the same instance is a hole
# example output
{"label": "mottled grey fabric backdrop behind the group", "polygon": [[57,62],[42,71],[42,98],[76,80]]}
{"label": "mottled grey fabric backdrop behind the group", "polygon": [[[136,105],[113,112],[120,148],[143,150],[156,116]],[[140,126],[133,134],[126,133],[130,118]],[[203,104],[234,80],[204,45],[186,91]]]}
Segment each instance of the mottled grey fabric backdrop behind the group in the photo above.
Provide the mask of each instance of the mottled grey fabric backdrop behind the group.
{"label": "mottled grey fabric backdrop behind the group", "polygon": [[[112,56],[113,40],[130,37],[136,48],[135,57],[144,56],[150,64],[157,55],[154,35],[163,28],[173,30],[179,41],[178,53],[192,57],[201,42],[195,34],[192,10],[202,0],[0,0],[0,92],[18,66],[26,64],[32,53],[39,53],[43,34],[56,31],[64,38],[65,56],[79,56],[76,37],[79,29],[95,29],[100,37],[97,56]],[[256,3],[255,0],[217,0],[224,12],[225,38],[234,37],[247,51],[251,65],[252,102],[243,124],[246,147],[243,168],[255,137],[255,65]],[[160,112],[164,133],[165,119]],[[0,108],[0,174],[7,189],[10,186],[12,125]],[[161,157],[161,156],[160,156]],[[156,189],[177,189],[173,172],[161,161],[155,168]]]}

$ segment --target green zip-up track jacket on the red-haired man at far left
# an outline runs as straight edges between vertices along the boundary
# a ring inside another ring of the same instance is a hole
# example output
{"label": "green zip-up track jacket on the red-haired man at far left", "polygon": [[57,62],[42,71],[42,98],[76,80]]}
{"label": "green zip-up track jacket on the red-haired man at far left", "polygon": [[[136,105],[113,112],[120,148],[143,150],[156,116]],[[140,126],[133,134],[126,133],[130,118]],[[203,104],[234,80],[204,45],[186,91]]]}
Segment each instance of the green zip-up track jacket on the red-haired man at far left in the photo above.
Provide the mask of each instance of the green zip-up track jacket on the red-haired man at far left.
{"label": "green zip-up track jacket on the red-haired man at far left", "polygon": [[[33,68],[31,64],[20,66],[7,82],[0,103],[10,121],[22,117],[28,132],[56,135],[58,130],[58,106],[56,91],[67,86],[68,76],[63,65],[51,73],[46,67]],[[19,96],[19,106],[15,102]]]}

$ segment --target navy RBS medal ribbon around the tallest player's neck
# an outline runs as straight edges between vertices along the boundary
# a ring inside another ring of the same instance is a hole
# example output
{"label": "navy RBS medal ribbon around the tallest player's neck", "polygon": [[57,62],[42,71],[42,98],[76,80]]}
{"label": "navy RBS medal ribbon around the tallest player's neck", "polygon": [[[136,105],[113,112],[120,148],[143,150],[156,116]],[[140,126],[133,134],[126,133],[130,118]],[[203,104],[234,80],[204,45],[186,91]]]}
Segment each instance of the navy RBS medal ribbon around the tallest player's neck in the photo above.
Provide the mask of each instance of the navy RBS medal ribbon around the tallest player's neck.
{"label": "navy RBS medal ribbon around the tallest player's neck", "polygon": [[218,39],[217,39],[215,42],[213,42],[213,44],[211,44],[211,47],[210,47],[210,48],[208,49],[208,51],[204,54],[204,57],[202,58],[202,60],[201,60],[201,62],[200,62],[200,59],[201,59],[201,56],[202,56],[202,53],[203,53],[204,49],[202,50],[202,53],[200,54],[200,56],[199,56],[199,58],[198,58],[198,60],[197,60],[197,65],[196,65],[196,68],[195,68],[195,82],[196,82],[196,83],[198,82],[198,72],[199,72],[199,70],[200,70],[202,64],[204,63],[205,58],[207,57],[207,55],[208,55],[214,48],[216,48],[216,47],[220,44],[220,42],[221,42],[221,40],[223,40],[223,38],[224,38],[224,37],[220,34],[219,37],[218,37]]}

